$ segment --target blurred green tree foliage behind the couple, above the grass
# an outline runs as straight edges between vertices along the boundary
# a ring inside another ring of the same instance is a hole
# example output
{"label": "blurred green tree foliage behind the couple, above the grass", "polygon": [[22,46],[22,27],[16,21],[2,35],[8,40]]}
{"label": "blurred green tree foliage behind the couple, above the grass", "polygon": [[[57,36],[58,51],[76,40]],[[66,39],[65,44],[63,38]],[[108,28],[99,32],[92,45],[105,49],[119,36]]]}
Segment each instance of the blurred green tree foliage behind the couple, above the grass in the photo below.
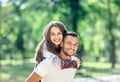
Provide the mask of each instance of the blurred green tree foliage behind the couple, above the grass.
{"label": "blurred green tree foliage behind the couple, above the grass", "polygon": [[2,59],[14,59],[17,53],[23,58],[34,57],[46,24],[60,20],[69,31],[79,33],[78,55],[83,57],[81,59],[84,56],[94,60],[105,57],[109,61],[114,54],[119,62],[118,0],[8,0],[6,3],[0,7]]}

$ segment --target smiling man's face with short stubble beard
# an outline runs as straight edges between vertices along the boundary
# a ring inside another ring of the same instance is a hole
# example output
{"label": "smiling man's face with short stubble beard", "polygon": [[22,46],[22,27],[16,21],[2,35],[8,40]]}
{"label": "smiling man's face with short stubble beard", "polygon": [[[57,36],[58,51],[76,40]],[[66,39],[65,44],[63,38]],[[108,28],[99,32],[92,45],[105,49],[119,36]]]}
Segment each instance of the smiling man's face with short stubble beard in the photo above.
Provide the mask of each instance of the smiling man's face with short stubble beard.
{"label": "smiling man's face with short stubble beard", "polygon": [[66,36],[64,42],[62,42],[62,51],[67,56],[73,56],[76,54],[78,49],[79,39],[73,36]]}

